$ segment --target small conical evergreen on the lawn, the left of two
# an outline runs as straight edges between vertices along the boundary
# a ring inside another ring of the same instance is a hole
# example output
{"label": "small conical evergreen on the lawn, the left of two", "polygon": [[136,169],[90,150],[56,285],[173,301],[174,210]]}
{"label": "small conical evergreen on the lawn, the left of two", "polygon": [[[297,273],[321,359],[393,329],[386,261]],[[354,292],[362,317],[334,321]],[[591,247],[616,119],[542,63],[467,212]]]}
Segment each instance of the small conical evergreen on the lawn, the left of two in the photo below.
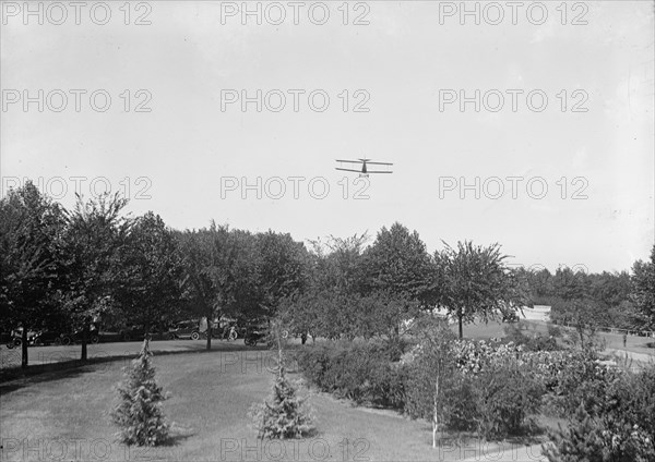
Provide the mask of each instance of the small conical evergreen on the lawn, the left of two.
{"label": "small conical evergreen on the lawn, the left of two", "polygon": [[111,417],[120,427],[118,436],[126,445],[156,446],[168,438],[170,425],[160,408],[167,397],[155,381],[151,356],[146,339],[132,367],[126,367],[126,380],[118,387],[120,402]]}

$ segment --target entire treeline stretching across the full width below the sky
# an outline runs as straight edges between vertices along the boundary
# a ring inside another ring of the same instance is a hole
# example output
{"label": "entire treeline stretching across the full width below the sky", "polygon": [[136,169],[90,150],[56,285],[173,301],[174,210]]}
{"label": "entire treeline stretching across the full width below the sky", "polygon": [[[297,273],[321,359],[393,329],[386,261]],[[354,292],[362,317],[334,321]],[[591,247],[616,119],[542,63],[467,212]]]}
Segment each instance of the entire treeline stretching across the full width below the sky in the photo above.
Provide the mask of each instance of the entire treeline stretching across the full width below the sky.
{"label": "entire treeline stretching across the full width below the sky", "polygon": [[462,335],[474,319],[511,318],[521,306],[547,303],[557,316],[616,311],[655,324],[655,248],[632,276],[550,275],[510,268],[497,244],[463,242],[430,254],[400,223],[372,242],[364,234],[306,246],[288,233],[214,223],[171,230],[153,212],[126,215],[126,205],[119,196],[79,198],[67,210],[32,183],[0,200],[2,327],[23,327],[24,367],[28,330],[81,332],[86,360],[98,319],[152,331],[190,317],[278,317],[294,333],[394,341],[421,311],[445,309]]}

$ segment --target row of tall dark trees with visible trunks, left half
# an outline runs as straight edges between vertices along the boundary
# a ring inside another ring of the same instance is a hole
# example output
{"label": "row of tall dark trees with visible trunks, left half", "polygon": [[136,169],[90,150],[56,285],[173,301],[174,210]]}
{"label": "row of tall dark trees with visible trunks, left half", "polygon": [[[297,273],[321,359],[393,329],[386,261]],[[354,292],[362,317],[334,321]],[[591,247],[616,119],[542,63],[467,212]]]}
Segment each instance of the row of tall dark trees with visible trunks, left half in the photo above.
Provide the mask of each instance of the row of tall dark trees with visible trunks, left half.
{"label": "row of tall dark trees with visible trunks, left half", "polygon": [[69,211],[32,183],[0,200],[2,330],[23,328],[24,367],[29,330],[79,332],[85,361],[98,320],[147,332],[189,317],[272,316],[301,290],[307,252],[288,234],[180,232],[153,212],[126,215],[126,204],[79,198]]}

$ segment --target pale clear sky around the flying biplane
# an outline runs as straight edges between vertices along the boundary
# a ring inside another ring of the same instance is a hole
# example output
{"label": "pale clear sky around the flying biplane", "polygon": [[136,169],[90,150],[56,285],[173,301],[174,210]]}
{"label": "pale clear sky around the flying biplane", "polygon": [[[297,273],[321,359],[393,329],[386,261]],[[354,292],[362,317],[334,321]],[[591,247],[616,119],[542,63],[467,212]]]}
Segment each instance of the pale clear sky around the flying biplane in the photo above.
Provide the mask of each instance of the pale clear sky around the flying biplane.
{"label": "pale clear sky around the flying biplane", "polygon": [[400,221],[550,270],[655,241],[652,1],[1,7],[2,195],[299,241]]}

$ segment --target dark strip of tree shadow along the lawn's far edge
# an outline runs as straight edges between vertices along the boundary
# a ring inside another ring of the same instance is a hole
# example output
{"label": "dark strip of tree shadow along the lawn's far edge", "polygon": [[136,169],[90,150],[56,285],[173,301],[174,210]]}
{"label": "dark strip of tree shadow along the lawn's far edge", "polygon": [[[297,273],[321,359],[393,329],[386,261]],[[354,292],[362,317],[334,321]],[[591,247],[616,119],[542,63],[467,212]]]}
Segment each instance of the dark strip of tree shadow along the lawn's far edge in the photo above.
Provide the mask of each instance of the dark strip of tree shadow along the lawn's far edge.
{"label": "dark strip of tree shadow along the lawn's far edge", "polygon": [[[236,352],[269,352],[265,346],[246,346],[238,343],[218,343],[214,344],[212,350],[202,349],[199,350],[198,345],[180,345],[182,350],[176,351],[157,351],[153,349],[155,357],[168,356],[177,354],[193,354],[193,355],[211,355],[222,353],[236,353]],[[218,348],[217,348],[218,346]],[[107,356],[90,357],[83,362],[81,360],[59,361],[47,364],[34,364],[23,369],[20,365],[13,367],[4,367],[0,369],[0,394],[9,394],[13,391],[20,390],[21,388],[27,387],[33,384],[39,384],[51,380],[61,380],[71,377],[78,377],[82,374],[87,373],[104,373],[107,370],[107,366],[116,362],[124,362],[123,365],[128,365],[128,361],[135,358],[139,355],[139,351],[134,352],[117,352]]]}

